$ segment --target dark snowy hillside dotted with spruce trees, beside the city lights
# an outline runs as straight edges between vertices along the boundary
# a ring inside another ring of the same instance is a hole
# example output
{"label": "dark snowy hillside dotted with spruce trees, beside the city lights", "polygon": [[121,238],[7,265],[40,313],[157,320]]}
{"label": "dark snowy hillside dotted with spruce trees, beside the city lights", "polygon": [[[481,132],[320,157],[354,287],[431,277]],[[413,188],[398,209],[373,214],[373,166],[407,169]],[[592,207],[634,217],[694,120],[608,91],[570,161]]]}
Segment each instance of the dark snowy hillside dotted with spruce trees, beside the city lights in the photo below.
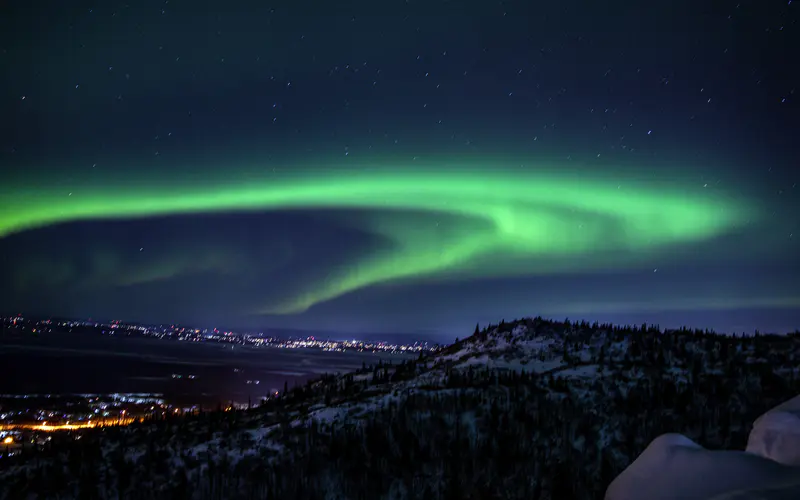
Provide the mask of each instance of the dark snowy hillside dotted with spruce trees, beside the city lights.
{"label": "dark snowy hillside dotted with spruce trees, beside the city lights", "polygon": [[745,449],[799,366],[796,335],[501,322],[251,411],[89,432],[0,465],[0,497],[603,498],[660,435]]}

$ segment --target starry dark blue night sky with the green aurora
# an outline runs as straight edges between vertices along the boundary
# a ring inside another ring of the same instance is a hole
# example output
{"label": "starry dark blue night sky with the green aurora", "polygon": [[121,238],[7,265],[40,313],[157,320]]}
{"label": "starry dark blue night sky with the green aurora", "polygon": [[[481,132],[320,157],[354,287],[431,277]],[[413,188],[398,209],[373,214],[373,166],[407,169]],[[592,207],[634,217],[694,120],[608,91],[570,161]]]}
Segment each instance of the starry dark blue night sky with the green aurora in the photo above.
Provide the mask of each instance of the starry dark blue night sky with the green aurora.
{"label": "starry dark blue night sky with the green aurora", "polygon": [[0,309],[800,327],[800,2],[5,2]]}

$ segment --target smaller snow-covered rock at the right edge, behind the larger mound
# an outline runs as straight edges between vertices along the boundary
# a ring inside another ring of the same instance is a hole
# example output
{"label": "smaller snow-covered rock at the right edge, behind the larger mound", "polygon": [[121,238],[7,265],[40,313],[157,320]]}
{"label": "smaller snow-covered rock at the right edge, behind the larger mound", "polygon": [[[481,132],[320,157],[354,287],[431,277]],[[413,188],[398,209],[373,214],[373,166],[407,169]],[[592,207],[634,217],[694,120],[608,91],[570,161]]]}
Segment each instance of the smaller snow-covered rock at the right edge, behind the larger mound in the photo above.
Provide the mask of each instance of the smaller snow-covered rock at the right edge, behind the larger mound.
{"label": "smaller snow-covered rock at the right edge, behind the larger mound", "polygon": [[755,421],[747,440],[747,451],[800,467],[800,396],[778,405]]}

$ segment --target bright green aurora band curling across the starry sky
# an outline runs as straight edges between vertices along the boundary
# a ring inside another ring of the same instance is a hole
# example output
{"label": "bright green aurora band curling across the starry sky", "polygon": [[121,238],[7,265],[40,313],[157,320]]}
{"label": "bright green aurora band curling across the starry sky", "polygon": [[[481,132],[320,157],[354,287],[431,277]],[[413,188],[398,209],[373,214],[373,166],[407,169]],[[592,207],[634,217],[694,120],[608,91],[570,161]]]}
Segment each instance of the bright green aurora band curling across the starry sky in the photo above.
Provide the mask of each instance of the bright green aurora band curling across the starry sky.
{"label": "bright green aurora band curling across the starry sky", "polygon": [[[212,181],[136,177],[0,188],[0,237],[80,220],[231,211],[329,210],[378,237],[370,255],[323,283],[258,307],[292,314],[348,292],[402,279],[535,275],[624,267],[686,251],[756,222],[741,199],[658,183],[617,182],[523,170],[325,170]],[[69,190],[70,193],[66,193]],[[355,211],[356,215],[351,215]]]}

